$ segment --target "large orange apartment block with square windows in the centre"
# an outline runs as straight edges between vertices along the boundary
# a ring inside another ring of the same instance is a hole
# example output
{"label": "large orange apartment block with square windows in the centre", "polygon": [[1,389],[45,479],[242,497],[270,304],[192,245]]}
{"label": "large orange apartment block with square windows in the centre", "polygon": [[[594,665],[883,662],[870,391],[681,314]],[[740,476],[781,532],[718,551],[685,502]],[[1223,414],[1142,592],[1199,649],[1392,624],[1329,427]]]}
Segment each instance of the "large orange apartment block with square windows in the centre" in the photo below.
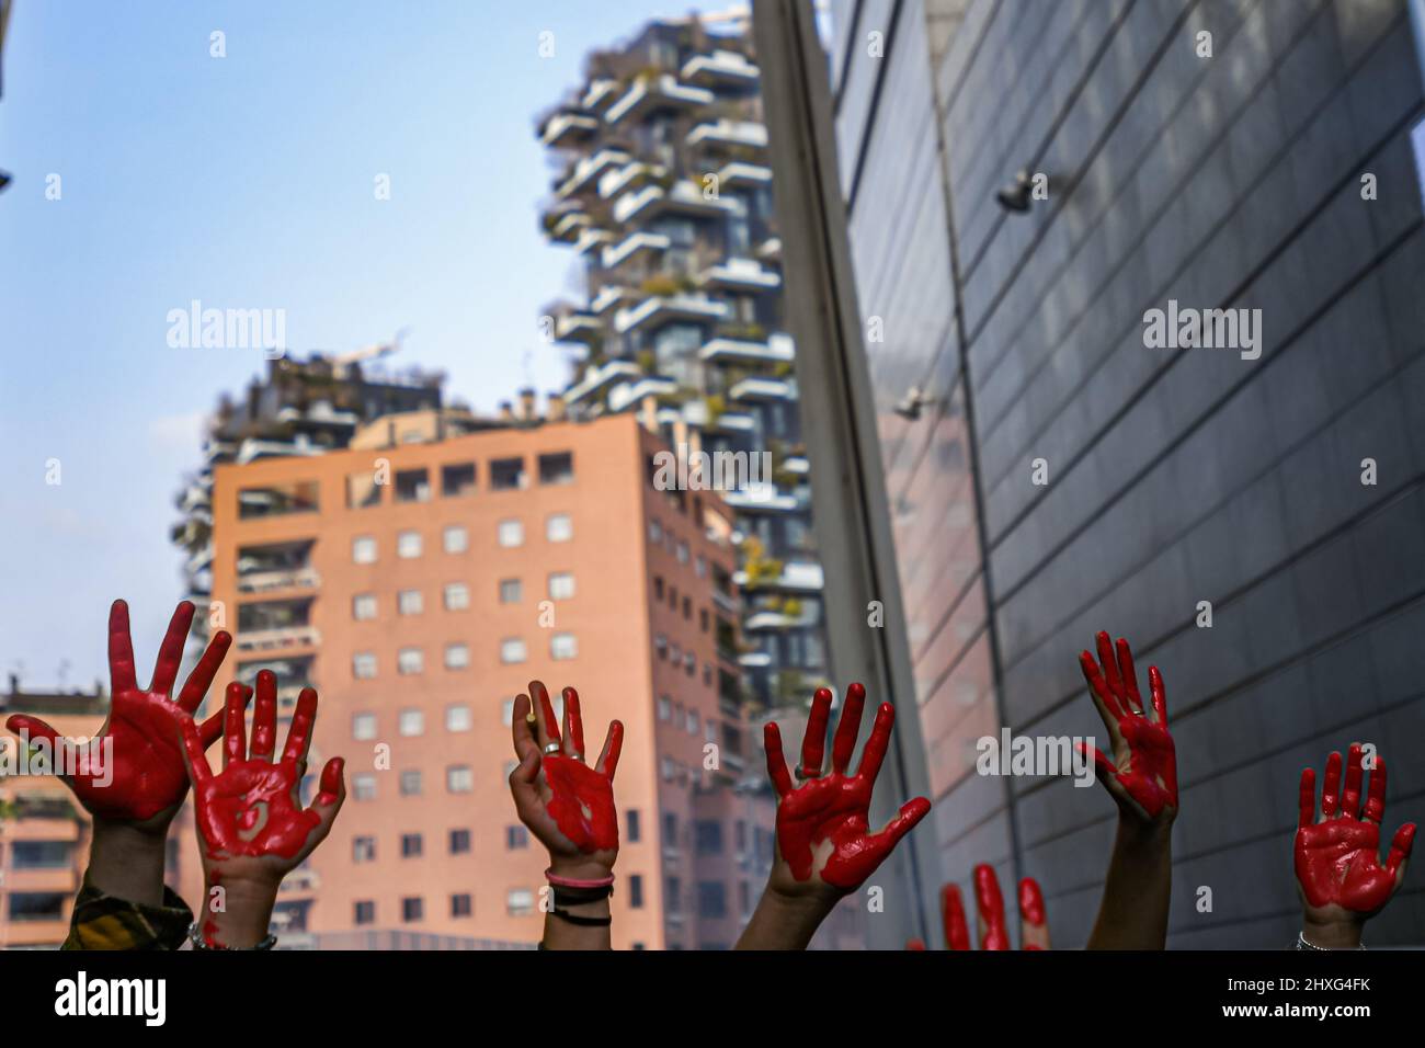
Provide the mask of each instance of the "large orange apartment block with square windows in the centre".
{"label": "large orange apartment block with square windows in the centre", "polygon": [[[594,753],[626,726],[614,945],[731,945],[774,811],[748,761],[731,515],[714,492],[656,490],[663,445],[631,415],[456,436],[442,419],[214,469],[224,670],[274,669],[285,714],[315,686],[311,767],[346,757],[346,807],[284,884],[282,945],[537,942],[546,856],[506,784],[530,679],[579,687]],[[191,813],[177,826],[197,904]]]}

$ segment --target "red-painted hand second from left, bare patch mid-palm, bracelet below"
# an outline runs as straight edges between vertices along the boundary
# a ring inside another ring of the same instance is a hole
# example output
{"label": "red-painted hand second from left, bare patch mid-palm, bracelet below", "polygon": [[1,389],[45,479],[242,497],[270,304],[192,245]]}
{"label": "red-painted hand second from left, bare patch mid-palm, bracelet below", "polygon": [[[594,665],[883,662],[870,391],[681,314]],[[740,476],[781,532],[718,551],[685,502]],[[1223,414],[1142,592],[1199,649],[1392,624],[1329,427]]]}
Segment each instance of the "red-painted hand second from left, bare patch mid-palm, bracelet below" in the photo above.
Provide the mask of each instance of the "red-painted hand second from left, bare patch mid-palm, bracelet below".
{"label": "red-painted hand second from left, bare patch mid-palm, bracelet below", "polygon": [[252,751],[248,754],[242,689],[228,686],[225,706],[224,767],[212,774],[192,721],[184,724],[184,744],[194,781],[198,837],[204,846],[209,880],[228,860],[272,858],[289,870],[331,830],[343,797],[341,757],[322,769],[321,791],[304,808],[298,796],[306,771],[306,750],[316,720],[316,692],[302,689],[288,730],[282,759],[272,763],[276,731],[276,677],[258,674],[258,703],[252,719]]}

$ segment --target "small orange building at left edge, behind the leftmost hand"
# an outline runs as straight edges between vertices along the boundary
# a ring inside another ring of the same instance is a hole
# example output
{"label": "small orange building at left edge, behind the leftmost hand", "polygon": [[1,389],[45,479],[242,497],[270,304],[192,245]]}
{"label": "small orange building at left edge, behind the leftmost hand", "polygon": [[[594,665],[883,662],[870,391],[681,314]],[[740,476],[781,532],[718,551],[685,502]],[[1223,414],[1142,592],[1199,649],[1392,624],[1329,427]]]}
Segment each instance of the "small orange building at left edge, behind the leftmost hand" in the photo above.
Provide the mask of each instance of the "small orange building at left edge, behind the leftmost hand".
{"label": "small orange building at left edge, behind the leftmost hand", "polygon": [[[103,687],[21,692],[11,677],[9,693],[0,696],[0,737],[17,746],[3,727],[11,713],[31,713],[61,736],[88,739],[103,726],[108,699]],[[64,941],[90,837],[88,813],[54,776],[0,779],[0,947],[53,950]]]}

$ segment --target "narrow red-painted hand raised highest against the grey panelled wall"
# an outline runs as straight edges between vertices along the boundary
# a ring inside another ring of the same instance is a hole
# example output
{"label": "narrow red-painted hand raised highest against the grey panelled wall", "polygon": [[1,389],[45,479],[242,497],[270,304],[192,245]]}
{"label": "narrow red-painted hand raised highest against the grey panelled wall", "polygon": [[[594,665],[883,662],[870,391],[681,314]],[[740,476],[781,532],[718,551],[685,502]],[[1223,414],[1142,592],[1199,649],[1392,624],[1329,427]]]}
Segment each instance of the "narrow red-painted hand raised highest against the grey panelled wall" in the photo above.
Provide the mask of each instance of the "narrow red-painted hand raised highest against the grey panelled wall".
{"label": "narrow red-painted hand raised highest against the grey panelled wall", "polygon": [[[1177,813],[1177,753],[1167,730],[1167,692],[1157,666],[1149,667],[1153,717],[1143,709],[1139,677],[1129,642],[1119,639],[1117,659],[1107,633],[1099,633],[1099,662],[1087,652],[1079,656],[1084,680],[1093,689],[1099,713],[1113,737],[1116,761],[1094,749],[1093,760],[1104,784],[1117,783],[1126,798],[1156,820],[1166,808]],[[1102,672],[1100,672],[1102,664]],[[1110,786],[1110,793],[1114,793]],[[1114,798],[1119,794],[1114,793]]]}

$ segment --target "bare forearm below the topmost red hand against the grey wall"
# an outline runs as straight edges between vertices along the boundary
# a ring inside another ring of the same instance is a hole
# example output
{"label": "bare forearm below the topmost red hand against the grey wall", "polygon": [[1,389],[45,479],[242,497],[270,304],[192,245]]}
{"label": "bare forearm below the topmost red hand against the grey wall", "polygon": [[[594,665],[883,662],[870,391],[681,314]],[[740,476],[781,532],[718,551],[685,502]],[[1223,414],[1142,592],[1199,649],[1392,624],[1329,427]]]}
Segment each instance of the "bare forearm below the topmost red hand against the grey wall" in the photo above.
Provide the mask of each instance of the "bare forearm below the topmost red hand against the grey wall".
{"label": "bare forearm below the topmost red hand against the grey wall", "polygon": [[1171,826],[1119,817],[1089,950],[1163,950],[1173,890]]}

